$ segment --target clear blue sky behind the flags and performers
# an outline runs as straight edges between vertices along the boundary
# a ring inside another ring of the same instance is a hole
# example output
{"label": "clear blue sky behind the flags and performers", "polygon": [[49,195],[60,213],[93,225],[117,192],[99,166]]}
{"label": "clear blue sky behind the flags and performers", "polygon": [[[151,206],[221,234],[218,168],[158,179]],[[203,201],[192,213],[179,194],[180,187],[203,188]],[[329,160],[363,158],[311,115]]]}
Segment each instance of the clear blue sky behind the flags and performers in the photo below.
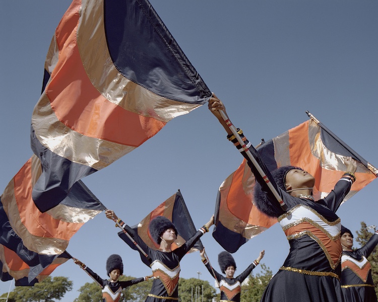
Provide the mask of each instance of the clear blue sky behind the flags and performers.
{"label": "clear blue sky behind the flags and performers", "polygon": [[[233,123],[253,144],[292,128],[310,111],[363,158],[378,166],[378,2],[366,1],[151,1],[210,90],[221,98]],[[32,152],[30,119],[41,90],[43,66],[54,29],[68,0],[0,0],[0,193]],[[127,223],[180,189],[199,228],[214,212],[217,190],[242,157],[203,106],[169,122],[156,136],[111,166],[84,178],[86,185]],[[378,223],[375,181],[341,206],[353,232],[360,221]],[[73,237],[68,251],[103,278],[105,261],[122,256],[125,274],[150,274],[139,254],[116,235],[103,213]],[[222,251],[203,237],[219,269]],[[277,272],[289,245],[278,224],[233,256],[241,272],[265,249],[263,262]],[[254,273],[260,268],[256,268]],[[183,278],[213,279],[198,253],[181,261]],[[67,276],[72,302],[92,280],[69,261],[52,276]],[[10,281],[0,282],[0,293]],[[12,285],[13,287],[13,285]]]}

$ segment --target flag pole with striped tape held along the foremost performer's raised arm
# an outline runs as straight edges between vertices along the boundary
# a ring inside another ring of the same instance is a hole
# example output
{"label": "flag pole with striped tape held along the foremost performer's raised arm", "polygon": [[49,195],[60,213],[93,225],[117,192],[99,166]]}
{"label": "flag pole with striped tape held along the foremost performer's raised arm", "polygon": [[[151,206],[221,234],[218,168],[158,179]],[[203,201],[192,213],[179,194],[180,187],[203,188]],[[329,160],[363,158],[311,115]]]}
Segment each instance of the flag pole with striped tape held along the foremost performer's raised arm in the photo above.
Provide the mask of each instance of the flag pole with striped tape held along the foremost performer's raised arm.
{"label": "flag pole with striped tape held along the foremost performer's raised arm", "polygon": [[250,153],[248,147],[245,145],[243,140],[241,139],[239,133],[237,133],[237,129],[235,126],[231,123],[230,119],[228,118],[227,114],[223,110],[219,110],[220,115],[222,116],[223,120],[226,122],[228,128],[230,128],[232,134],[236,137],[237,141],[241,145],[241,151],[244,151],[246,155],[248,156],[248,159],[251,161],[251,163],[255,166],[261,177],[265,180],[266,184],[268,185],[269,189],[272,191],[274,197],[276,197],[277,201],[279,202],[281,208],[285,211],[287,209],[287,206],[285,202],[282,200],[281,196],[278,194],[275,187],[270,182],[269,178],[266,176],[263,169],[260,167],[259,163],[256,161],[254,156]]}

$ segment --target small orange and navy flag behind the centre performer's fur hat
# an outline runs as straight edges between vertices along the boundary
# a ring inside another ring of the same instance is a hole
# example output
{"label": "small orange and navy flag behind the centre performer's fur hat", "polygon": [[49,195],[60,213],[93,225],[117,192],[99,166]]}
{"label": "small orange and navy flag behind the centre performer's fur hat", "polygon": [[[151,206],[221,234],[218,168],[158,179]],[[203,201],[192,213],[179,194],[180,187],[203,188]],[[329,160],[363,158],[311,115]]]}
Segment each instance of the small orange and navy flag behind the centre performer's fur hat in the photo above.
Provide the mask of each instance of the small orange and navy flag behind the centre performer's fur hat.
{"label": "small orange and navy flag behind the centre performer's fur hat", "polygon": [[[192,217],[186,207],[184,199],[181,192],[178,190],[177,193],[173,194],[167,200],[162,202],[157,208],[155,208],[151,213],[149,213],[141,222],[132,226],[131,228],[135,233],[143,240],[143,242],[151,249],[158,250],[159,246],[152,239],[148,226],[150,221],[157,216],[164,216],[168,218],[174,224],[177,230],[176,241],[172,244],[171,249],[175,250],[182,246],[188,239],[190,239],[196,232],[196,227],[193,223]],[[119,232],[118,236],[127,243],[132,249],[137,250],[134,243],[123,233]],[[203,250],[201,240],[198,240],[189,253],[195,251]],[[150,266],[150,262],[141,254],[141,259],[143,263]]]}

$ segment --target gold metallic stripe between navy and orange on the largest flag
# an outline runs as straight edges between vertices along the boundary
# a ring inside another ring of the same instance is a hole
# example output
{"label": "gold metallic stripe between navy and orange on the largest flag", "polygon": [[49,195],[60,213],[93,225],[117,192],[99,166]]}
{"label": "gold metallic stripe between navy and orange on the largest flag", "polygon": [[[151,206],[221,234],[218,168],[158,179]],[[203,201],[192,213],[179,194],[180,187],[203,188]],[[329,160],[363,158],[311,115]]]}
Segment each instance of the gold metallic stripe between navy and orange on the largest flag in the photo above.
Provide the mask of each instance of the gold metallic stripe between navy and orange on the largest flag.
{"label": "gold metallic stripe between navy and orange on the largest flag", "polygon": [[[198,104],[160,97],[118,72],[107,48],[103,5],[98,3],[99,1],[83,0],[77,34],[83,66],[96,89],[110,102],[126,110],[163,122],[199,107]],[[94,20],[96,26],[93,25]]]}

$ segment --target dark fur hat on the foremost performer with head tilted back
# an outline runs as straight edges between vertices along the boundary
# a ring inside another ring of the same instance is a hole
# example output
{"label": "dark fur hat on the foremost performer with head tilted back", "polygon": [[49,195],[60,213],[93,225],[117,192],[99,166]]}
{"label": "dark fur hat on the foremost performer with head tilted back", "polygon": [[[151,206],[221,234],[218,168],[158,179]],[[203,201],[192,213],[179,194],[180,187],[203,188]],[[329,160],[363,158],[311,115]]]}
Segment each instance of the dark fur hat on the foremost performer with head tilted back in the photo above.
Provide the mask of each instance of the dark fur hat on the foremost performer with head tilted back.
{"label": "dark fur hat on the foremost performer with head tilted back", "polygon": [[[287,172],[293,169],[298,169],[298,170],[303,171],[303,169],[299,167],[283,166],[272,172],[272,177],[274,181],[276,182],[277,186],[280,187],[284,191],[286,191],[286,188],[285,188],[286,174]],[[263,192],[259,183],[256,183],[255,185],[254,195],[255,195],[255,200],[254,200],[255,204],[257,208],[263,213],[267,214],[270,217],[278,217],[284,213],[284,211],[281,209],[278,202],[271,203],[268,200],[267,194]]]}

